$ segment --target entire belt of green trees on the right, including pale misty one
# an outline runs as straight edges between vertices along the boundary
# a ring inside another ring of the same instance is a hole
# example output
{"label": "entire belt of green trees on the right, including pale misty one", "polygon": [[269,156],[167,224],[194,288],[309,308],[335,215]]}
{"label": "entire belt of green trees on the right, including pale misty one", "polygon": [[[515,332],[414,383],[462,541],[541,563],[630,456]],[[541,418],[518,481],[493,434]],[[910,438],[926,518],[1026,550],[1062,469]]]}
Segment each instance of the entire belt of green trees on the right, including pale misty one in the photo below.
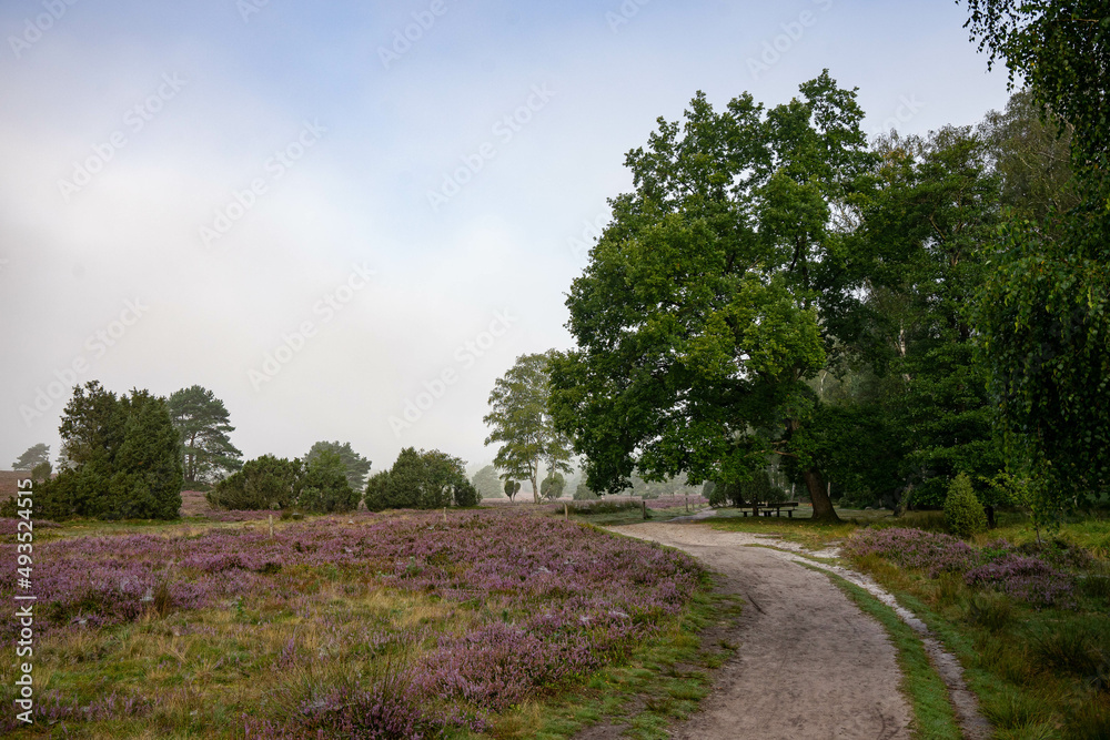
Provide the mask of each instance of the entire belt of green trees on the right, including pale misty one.
{"label": "entire belt of green trees on the right, including pale misty one", "polygon": [[685,473],[730,496],[778,458],[829,519],[829,483],[939,506],[965,474],[988,511],[1038,516],[1106,495],[1110,21],[969,8],[1028,83],[979,126],[869,142],[827,71],[789,103],[698,93],[660,119],[572,285],[577,348],[490,397],[503,477],[539,491],[573,452],[593,490]]}

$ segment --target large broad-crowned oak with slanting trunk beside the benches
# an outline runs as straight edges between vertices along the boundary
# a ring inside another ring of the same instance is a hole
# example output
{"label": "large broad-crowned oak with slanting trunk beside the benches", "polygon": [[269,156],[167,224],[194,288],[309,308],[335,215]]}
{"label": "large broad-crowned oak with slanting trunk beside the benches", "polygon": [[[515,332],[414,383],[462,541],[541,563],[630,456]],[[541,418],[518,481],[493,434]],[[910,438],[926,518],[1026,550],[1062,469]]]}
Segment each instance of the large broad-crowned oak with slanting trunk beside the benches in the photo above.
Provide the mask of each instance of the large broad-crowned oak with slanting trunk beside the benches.
{"label": "large broad-crowned oak with slanting trunk beside the benches", "polygon": [[[634,469],[739,481],[808,423],[804,382],[835,358],[857,302],[834,213],[876,158],[854,91],[826,72],[800,93],[720,113],[698,93],[682,124],[660,120],[628,153],[636,190],[610,202],[567,300],[578,348],[552,367],[553,414],[595,490]],[[815,515],[835,518],[819,472],[803,472]]]}

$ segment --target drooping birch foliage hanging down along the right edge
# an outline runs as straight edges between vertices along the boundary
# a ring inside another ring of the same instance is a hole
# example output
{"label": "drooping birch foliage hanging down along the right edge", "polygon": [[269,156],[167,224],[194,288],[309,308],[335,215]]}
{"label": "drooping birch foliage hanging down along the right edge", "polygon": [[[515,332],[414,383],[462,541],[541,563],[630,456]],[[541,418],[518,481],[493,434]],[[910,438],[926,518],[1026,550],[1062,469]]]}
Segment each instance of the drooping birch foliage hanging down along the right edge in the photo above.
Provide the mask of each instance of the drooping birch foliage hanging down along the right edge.
{"label": "drooping birch foliage hanging down along the right edge", "polygon": [[979,298],[981,356],[1009,463],[1035,479],[1043,519],[1110,484],[1110,17],[1101,0],[968,8],[991,63],[1005,60],[1042,119],[1059,116],[1071,134],[1078,205],[1007,223]]}

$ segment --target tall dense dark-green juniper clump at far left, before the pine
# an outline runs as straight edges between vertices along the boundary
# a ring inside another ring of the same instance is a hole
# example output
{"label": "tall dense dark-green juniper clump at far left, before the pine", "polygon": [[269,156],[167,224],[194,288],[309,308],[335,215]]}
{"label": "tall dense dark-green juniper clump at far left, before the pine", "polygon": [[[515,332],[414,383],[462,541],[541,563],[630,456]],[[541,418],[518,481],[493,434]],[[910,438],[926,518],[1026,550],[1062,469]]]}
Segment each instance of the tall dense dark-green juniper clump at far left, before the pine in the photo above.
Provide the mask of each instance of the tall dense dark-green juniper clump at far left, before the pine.
{"label": "tall dense dark-green juniper clump at far left, before the pine", "polygon": [[59,430],[73,467],[36,486],[36,516],[178,518],[181,459],[164,398],[117,397],[92,381],[73,389]]}

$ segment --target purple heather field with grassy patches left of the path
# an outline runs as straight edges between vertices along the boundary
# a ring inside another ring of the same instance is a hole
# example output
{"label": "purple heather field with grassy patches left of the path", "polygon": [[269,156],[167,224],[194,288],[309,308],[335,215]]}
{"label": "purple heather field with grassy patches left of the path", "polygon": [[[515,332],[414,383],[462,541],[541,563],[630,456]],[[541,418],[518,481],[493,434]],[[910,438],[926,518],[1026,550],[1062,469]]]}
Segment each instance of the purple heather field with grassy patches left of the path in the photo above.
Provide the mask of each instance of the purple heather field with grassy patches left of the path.
{"label": "purple heather field with grassy patches left of the path", "polygon": [[525,508],[275,516],[272,536],[270,513],[183,509],[37,528],[37,717],[17,737],[528,737],[545,701],[679,635],[708,581]]}

